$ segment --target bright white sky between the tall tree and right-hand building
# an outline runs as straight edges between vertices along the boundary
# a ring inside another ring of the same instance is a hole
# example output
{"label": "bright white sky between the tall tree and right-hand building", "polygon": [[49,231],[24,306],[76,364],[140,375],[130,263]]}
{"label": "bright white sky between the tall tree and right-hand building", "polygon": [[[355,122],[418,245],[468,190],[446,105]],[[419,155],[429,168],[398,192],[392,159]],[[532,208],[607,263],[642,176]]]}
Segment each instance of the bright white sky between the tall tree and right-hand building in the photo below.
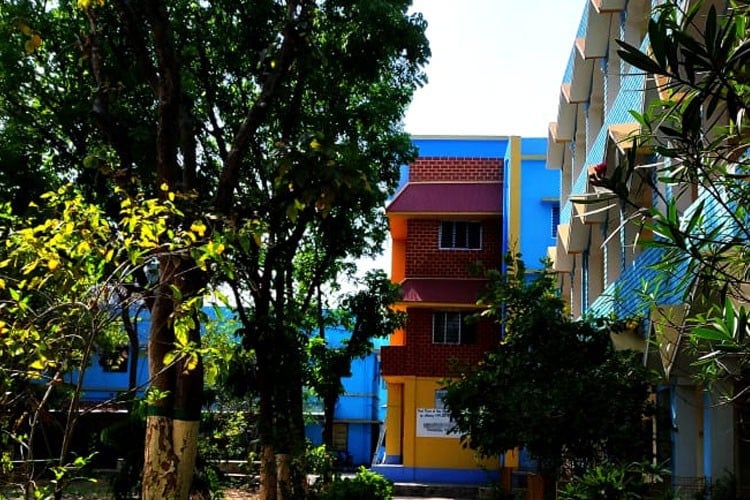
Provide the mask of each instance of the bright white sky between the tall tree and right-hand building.
{"label": "bright white sky between the tall tree and right-hand building", "polygon": [[547,137],[589,0],[414,0],[432,58],[412,135]]}

